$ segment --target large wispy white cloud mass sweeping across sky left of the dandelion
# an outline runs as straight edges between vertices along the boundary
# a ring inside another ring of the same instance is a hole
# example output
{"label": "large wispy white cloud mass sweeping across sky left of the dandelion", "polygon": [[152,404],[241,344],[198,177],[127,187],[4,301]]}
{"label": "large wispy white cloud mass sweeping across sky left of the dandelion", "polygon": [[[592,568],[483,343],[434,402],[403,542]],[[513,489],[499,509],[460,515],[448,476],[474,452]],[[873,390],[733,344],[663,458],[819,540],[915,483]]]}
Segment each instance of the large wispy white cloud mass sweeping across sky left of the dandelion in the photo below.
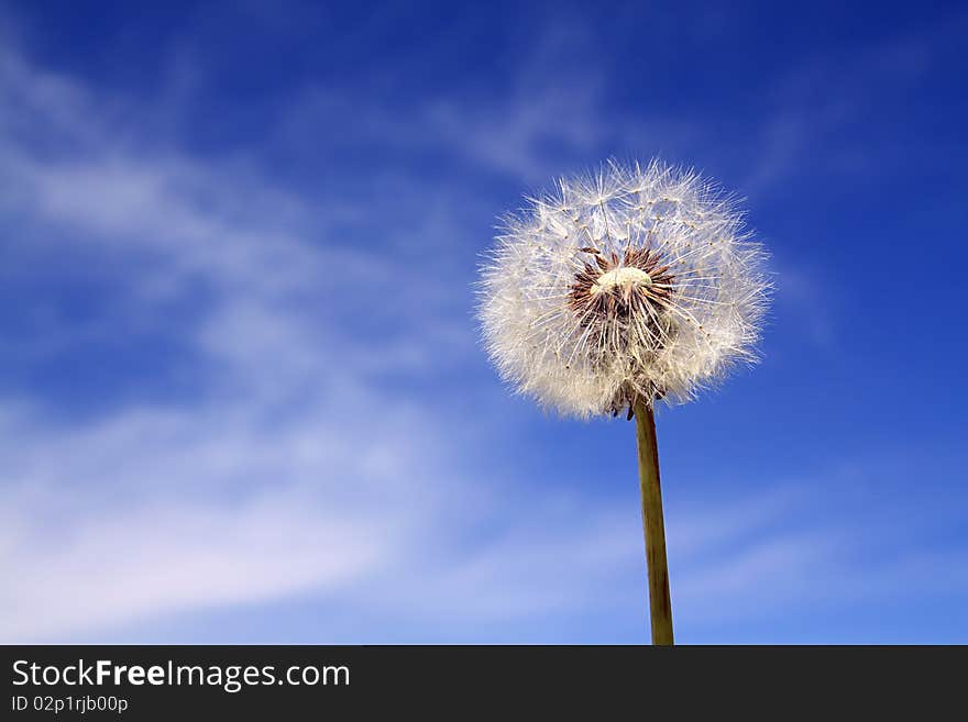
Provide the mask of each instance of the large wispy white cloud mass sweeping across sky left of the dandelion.
{"label": "large wispy white cloud mass sweeping across sky left of the dandelion", "polygon": [[[0,137],[0,174],[19,189],[7,211],[38,243],[57,248],[68,235],[92,263],[123,269],[131,306],[119,312],[135,320],[204,284],[210,292],[179,333],[211,371],[200,398],[109,404],[84,424],[6,401],[0,637],[70,638],[184,609],[346,595],[400,556],[413,565],[428,545],[446,547],[460,514],[474,522],[481,493],[453,435],[373,379],[449,357],[437,344],[447,314],[462,310],[428,293],[432,264],[415,276],[340,243],[326,212],[251,169],[119,141],[131,129],[116,130],[88,89],[9,52],[2,65],[4,95],[22,101]],[[70,149],[52,158],[37,138]],[[378,319],[388,300],[414,299],[424,302],[402,316],[406,345],[358,337],[339,318],[353,308]],[[101,322],[111,333],[117,318]],[[418,563],[415,574],[432,585],[431,569]],[[506,593],[492,587],[503,608]]]}

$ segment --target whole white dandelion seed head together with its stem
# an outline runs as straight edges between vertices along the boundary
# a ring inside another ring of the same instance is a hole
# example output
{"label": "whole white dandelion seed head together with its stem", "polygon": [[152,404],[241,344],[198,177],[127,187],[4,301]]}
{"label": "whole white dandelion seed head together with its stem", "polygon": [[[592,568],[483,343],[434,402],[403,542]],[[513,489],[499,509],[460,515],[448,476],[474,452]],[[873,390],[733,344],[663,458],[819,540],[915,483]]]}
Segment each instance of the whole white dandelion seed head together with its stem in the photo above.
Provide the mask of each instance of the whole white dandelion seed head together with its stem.
{"label": "whole white dandelion seed head together with its stem", "polygon": [[765,253],[693,170],[615,163],[504,220],[480,315],[502,377],[543,407],[636,419],[652,642],[672,644],[653,408],[756,360]]}

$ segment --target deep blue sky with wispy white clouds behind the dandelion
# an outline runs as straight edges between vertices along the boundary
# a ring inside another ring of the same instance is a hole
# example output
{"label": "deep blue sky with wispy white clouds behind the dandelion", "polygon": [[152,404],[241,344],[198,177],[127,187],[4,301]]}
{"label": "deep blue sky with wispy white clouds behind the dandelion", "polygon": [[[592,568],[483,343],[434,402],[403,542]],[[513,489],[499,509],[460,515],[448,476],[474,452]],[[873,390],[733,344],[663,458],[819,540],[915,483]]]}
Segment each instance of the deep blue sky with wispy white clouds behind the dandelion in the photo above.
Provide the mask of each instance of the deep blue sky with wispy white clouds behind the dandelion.
{"label": "deep blue sky with wispy white clouds behind the dandelion", "polygon": [[957,3],[0,3],[0,641],[646,642],[634,429],[510,396],[495,218],[692,164],[763,360],[659,413],[676,638],[968,642]]}

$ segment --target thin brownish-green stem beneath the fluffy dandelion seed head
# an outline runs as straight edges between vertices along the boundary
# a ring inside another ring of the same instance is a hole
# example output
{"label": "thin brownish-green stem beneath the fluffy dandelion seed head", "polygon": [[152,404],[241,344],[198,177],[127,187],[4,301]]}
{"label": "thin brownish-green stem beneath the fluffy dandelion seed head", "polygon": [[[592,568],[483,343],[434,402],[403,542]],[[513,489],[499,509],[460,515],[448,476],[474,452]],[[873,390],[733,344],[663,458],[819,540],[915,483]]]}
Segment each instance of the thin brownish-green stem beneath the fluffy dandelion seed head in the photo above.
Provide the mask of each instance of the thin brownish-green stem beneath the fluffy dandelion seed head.
{"label": "thin brownish-green stem beneath the fluffy dandelion seed head", "polygon": [[642,493],[642,524],[646,534],[646,563],[649,567],[649,608],[652,644],[672,644],[672,598],[666,562],[666,522],[662,519],[662,489],[659,486],[659,447],[656,416],[641,398],[636,399],[636,441],[639,447],[639,488]]}

